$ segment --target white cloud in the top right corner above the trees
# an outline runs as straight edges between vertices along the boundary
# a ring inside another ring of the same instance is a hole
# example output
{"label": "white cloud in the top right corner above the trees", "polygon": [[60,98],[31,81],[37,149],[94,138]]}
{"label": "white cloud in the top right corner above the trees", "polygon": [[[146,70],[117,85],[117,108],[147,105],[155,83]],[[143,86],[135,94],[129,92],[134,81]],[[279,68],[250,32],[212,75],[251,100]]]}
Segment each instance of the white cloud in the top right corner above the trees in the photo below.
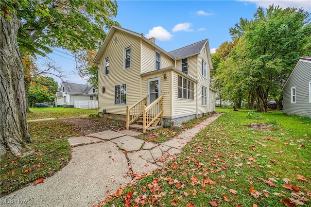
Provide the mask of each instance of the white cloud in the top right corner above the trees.
{"label": "white cloud in the top right corner above the trees", "polygon": [[294,7],[294,8],[303,8],[304,10],[311,12],[311,4],[310,0],[240,0],[240,1],[247,1],[256,3],[256,6],[262,6],[264,8],[269,7],[270,5],[274,4],[280,5],[283,9],[287,7]]}

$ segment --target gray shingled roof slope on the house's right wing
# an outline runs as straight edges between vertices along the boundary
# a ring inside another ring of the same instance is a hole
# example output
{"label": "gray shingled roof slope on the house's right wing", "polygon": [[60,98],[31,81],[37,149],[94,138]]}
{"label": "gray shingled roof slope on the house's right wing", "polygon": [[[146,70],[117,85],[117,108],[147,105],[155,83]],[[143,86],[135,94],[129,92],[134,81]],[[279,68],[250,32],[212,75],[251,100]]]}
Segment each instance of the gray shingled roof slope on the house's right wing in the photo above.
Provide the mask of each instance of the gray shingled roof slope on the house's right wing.
{"label": "gray shingled roof slope on the house's right wing", "polygon": [[188,45],[183,48],[179,48],[177,50],[169,52],[171,55],[176,57],[177,59],[182,58],[182,57],[189,57],[191,55],[195,55],[201,52],[202,48],[206,44],[207,39],[202,40],[200,42],[194,43],[192,45]]}

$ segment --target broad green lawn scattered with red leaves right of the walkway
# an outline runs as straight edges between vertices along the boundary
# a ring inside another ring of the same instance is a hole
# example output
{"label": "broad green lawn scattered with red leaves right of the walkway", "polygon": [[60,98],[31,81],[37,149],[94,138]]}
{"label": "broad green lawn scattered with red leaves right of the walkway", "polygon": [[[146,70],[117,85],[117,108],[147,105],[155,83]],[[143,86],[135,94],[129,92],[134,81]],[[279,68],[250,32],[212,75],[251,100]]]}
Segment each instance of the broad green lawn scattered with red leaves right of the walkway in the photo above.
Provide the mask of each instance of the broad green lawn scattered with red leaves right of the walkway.
{"label": "broad green lawn scattered with red leaves right of the walkway", "polygon": [[[311,119],[282,112],[248,119],[248,110],[217,111],[226,113],[176,159],[108,196],[105,206],[311,206]],[[270,128],[252,129],[254,122]]]}

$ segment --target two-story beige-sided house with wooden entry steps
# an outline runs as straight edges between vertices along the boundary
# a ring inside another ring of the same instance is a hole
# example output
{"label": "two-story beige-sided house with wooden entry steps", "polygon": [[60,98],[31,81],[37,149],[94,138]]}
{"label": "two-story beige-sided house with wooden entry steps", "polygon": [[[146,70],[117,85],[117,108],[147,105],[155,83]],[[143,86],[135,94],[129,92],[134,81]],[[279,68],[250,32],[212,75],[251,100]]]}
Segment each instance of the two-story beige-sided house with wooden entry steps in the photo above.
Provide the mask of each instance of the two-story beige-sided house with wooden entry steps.
{"label": "two-story beige-sided house with wooden entry steps", "polygon": [[99,112],[127,121],[127,128],[138,122],[145,131],[215,111],[208,39],[166,52],[155,38],[112,26],[94,62]]}

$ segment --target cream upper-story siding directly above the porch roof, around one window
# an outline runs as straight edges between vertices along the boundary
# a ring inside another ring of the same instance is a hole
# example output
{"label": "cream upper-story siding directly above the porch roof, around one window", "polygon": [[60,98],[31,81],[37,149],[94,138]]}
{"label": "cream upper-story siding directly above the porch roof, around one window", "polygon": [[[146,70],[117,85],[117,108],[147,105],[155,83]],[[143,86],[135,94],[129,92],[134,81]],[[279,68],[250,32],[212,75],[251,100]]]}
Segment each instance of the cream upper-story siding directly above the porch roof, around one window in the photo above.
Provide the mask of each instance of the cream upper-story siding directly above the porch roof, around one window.
{"label": "cream upper-story siding directly above the porch roof, around one window", "polygon": [[[141,74],[155,70],[155,47],[142,41],[141,46]],[[159,51],[157,51],[159,52]],[[159,52],[161,55],[161,68],[173,66],[173,59],[166,54]]]}

